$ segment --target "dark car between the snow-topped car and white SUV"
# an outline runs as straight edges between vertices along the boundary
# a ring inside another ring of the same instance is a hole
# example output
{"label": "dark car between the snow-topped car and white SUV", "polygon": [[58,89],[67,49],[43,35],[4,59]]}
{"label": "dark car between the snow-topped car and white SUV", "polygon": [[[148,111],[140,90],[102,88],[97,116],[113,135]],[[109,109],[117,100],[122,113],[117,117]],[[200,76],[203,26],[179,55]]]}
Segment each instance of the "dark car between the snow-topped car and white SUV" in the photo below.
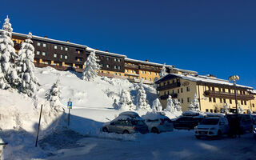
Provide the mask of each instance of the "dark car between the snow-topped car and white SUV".
{"label": "dark car between the snow-topped car and white SUV", "polygon": [[180,116],[174,121],[174,129],[194,130],[195,126],[201,122],[203,117],[200,116]]}

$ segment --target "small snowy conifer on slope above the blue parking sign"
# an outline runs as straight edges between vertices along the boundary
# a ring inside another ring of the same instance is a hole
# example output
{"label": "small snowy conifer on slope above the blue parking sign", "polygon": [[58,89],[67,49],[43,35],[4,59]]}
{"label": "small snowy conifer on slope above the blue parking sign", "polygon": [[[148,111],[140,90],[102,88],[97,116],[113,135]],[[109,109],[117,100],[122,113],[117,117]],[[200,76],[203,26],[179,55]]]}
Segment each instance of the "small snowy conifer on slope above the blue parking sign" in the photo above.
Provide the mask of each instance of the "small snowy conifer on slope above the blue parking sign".
{"label": "small snowy conifer on slope above the blue parking sign", "polygon": [[62,106],[60,102],[60,94],[59,90],[59,79],[51,86],[51,89],[46,93],[46,99],[50,102],[50,106],[54,107],[55,110],[60,110],[59,107]]}

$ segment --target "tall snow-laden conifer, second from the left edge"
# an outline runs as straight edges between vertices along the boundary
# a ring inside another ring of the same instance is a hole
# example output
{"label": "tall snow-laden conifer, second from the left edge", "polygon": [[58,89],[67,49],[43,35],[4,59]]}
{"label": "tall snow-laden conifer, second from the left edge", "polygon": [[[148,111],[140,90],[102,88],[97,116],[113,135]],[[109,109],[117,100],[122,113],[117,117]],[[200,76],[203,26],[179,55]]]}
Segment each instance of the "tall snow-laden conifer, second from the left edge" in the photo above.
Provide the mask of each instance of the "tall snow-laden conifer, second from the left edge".
{"label": "tall snow-laden conifer, second from the left edge", "polygon": [[29,96],[34,95],[38,85],[38,78],[34,75],[34,46],[31,38],[32,34],[29,33],[14,62],[19,77],[18,90]]}

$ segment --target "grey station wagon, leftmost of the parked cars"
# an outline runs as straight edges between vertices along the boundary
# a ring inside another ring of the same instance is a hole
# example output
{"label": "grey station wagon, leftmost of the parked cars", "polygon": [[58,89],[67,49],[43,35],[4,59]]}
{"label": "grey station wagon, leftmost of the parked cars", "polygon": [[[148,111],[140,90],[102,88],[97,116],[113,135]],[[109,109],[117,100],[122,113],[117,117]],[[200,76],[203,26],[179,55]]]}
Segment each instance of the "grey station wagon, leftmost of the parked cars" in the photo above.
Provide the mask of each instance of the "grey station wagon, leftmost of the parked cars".
{"label": "grey station wagon, leftmost of the parked cars", "polygon": [[125,112],[119,114],[111,122],[107,122],[102,126],[103,132],[117,133],[117,134],[134,134],[148,133],[148,126],[144,120],[135,112]]}

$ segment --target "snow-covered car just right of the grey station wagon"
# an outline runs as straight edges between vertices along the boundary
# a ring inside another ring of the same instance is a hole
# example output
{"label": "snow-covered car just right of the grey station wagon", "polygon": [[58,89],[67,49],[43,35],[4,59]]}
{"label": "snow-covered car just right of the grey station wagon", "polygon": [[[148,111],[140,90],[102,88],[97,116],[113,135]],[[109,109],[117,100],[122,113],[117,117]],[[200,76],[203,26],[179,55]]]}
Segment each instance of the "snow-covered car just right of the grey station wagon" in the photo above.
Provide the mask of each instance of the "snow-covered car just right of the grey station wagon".
{"label": "snow-covered car just right of the grey station wagon", "polygon": [[174,131],[174,125],[165,113],[148,113],[142,118],[152,133],[160,134],[161,132]]}

